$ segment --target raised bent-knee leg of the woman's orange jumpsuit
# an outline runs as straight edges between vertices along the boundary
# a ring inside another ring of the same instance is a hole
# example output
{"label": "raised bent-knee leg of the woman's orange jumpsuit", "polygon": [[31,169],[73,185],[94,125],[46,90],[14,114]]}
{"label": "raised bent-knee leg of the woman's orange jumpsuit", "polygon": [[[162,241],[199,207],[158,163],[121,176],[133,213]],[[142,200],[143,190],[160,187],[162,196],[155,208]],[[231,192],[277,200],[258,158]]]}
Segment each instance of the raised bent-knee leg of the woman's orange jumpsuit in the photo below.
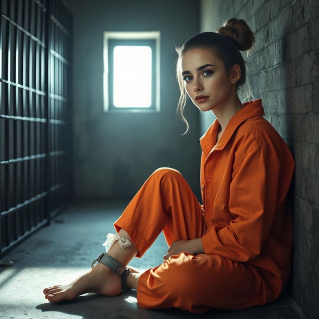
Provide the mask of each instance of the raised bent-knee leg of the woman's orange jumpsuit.
{"label": "raised bent-knee leg of the woman's orange jumpsuit", "polygon": [[168,247],[176,240],[201,237],[206,230],[200,203],[181,173],[170,167],[155,170],[114,222],[123,228],[142,257],[161,231]]}

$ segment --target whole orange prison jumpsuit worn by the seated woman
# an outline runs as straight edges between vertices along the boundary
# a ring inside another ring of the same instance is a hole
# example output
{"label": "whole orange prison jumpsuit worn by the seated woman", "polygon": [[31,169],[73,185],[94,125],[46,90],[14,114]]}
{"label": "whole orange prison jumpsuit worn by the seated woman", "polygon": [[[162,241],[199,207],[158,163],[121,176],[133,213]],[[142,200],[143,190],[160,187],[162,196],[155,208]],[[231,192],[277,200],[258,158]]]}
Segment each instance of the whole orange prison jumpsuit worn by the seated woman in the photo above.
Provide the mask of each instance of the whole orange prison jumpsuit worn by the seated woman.
{"label": "whole orange prison jumpsuit worn by the seated woman", "polygon": [[139,258],[161,231],[168,247],[201,238],[205,254],[180,252],[141,275],[140,307],[241,310],[274,301],[286,284],[293,243],[286,195],[295,161],[262,117],[261,99],[244,106],[217,144],[217,119],[199,139],[202,205],[178,170],[161,167],[114,222],[117,232],[128,232]]}

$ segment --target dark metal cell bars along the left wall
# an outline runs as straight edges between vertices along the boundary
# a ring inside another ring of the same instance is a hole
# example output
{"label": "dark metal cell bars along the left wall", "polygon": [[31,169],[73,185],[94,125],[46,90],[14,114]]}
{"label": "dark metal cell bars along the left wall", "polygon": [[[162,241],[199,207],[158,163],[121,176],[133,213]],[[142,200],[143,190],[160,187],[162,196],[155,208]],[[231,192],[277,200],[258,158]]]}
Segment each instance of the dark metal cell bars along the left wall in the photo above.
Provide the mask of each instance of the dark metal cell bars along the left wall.
{"label": "dark metal cell bars along the left wall", "polygon": [[73,197],[72,15],[62,0],[0,0],[0,256]]}

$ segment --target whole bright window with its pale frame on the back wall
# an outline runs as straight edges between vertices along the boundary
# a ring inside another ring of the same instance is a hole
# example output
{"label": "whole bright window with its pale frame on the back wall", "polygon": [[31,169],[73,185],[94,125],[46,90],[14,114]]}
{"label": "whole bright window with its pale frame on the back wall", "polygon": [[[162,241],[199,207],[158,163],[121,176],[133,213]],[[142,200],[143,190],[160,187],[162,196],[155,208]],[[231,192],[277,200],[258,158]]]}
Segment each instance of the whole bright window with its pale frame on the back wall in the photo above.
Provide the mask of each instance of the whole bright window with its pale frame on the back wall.
{"label": "whole bright window with its pale frame on the back wall", "polygon": [[104,32],[104,111],[160,111],[160,32]]}

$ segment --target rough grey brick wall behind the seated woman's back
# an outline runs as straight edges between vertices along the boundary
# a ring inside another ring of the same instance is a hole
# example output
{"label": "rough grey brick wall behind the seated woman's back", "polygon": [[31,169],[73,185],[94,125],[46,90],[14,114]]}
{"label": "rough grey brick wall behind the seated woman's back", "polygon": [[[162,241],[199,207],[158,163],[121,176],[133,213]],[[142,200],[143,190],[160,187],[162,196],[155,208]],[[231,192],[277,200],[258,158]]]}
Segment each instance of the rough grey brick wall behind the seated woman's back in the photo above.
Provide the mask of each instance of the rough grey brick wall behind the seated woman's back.
{"label": "rough grey brick wall behind the seated woman's back", "polygon": [[[264,116],[290,147],[296,171],[293,270],[289,293],[309,318],[319,318],[319,2],[316,0],[202,0],[201,32],[231,17],[256,35],[248,76]],[[251,99],[253,99],[251,98]],[[245,101],[242,101],[245,102]],[[208,112],[206,112],[208,113]],[[200,117],[205,132],[215,117]]]}

